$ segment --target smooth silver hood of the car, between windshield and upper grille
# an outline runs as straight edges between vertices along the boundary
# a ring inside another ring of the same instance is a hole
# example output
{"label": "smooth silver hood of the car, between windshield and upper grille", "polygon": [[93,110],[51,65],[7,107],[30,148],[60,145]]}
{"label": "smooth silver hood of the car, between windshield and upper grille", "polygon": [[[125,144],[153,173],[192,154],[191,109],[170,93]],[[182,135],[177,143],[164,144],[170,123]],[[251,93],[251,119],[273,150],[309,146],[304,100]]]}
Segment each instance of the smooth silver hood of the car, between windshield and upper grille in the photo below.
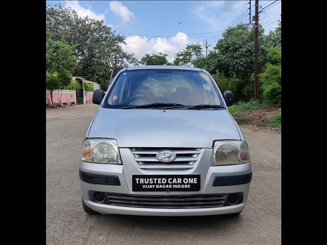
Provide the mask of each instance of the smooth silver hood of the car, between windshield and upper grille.
{"label": "smooth silver hood of the car, between windshield and upper grille", "polygon": [[226,110],[101,108],[88,137],[114,138],[128,148],[212,148],[214,140],[240,134]]}

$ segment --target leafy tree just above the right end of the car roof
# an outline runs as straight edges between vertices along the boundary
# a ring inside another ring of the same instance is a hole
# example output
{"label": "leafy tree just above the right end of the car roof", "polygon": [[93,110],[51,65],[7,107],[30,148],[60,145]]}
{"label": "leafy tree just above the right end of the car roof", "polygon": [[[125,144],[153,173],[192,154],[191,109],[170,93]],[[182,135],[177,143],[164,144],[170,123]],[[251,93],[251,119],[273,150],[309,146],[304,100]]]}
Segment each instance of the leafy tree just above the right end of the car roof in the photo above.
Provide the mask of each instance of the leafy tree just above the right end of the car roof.
{"label": "leafy tree just above the right end of the car roof", "polygon": [[200,44],[186,44],[183,51],[175,54],[174,65],[191,66],[194,61],[203,58]]}

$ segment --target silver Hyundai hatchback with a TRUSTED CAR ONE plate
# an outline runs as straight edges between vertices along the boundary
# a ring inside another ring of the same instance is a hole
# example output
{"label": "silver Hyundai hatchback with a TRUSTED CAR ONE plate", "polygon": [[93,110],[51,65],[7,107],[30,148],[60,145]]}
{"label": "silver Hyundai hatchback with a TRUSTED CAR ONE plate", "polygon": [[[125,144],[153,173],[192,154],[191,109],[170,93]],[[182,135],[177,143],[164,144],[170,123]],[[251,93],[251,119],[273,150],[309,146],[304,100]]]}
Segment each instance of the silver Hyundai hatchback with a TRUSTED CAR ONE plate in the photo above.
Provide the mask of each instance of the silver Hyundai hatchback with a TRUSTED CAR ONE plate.
{"label": "silver Hyundai hatchback with a TRUSTED CAR ONE plate", "polygon": [[79,165],[89,214],[240,213],[252,178],[247,143],[203,69],[136,66],[118,72],[90,122]]}

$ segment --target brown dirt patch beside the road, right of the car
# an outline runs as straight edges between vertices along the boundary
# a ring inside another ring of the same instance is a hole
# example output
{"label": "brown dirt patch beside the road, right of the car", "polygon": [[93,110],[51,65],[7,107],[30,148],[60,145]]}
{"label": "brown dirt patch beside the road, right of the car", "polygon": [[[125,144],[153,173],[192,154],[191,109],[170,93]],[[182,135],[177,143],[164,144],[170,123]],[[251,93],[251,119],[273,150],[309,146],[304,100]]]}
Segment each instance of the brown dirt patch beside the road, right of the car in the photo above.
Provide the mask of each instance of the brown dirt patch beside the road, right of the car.
{"label": "brown dirt patch beside the road, right of the car", "polygon": [[268,131],[275,131],[281,133],[281,128],[268,127],[270,118],[276,113],[281,113],[281,108],[273,108],[269,106],[262,106],[255,109],[250,109],[242,113],[233,114],[233,117],[239,125],[251,125],[266,129]]}

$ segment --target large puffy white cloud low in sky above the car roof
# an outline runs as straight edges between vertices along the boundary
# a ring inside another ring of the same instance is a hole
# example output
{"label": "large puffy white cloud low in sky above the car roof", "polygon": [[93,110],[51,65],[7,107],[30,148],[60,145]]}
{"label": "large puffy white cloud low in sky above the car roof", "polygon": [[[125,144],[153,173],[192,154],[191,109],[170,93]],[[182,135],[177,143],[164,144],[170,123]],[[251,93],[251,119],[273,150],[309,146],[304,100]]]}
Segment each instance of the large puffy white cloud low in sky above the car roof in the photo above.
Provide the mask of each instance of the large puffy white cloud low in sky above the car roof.
{"label": "large puffy white cloud low in sky above the car roof", "polygon": [[145,54],[157,54],[159,52],[168,54],[167,60],[173,62],[177,51],[183,50],[186,44],[193,43],[185,33],[178,32],[169,38],[147,38],[138,35],[128,36],[126,45],[122,45],[125,52],[134,53],[136,58],[142,58]]}

